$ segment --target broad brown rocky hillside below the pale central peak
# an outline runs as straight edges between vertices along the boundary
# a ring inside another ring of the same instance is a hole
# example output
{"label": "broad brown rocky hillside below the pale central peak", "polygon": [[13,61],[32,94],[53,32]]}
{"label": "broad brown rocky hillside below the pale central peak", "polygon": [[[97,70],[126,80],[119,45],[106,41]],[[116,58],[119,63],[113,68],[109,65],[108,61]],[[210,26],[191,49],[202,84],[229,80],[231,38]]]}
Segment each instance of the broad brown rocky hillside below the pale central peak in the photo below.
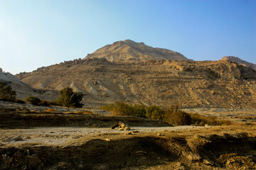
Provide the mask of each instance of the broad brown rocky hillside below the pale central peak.
{"label": "broad brown rocky hillside below the pale central peak", "polygon": [[36,89],[71,87],[85,94],[83,102],[90,106],[114,101],[186,108],[256,106],[255,70],[230,61],[110,62],[87,58],[16,77]]}

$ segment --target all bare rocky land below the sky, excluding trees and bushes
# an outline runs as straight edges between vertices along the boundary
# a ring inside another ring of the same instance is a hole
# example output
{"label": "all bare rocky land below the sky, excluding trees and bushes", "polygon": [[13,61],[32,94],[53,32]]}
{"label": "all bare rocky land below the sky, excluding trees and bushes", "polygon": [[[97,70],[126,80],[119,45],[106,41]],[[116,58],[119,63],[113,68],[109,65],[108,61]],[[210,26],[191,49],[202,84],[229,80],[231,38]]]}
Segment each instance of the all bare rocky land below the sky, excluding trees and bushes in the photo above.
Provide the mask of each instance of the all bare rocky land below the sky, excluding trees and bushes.
{"label": "all bare rocky land below the sky, excluding trees and bushes", "polygon": [[[0,169],[256,169],[256,72],[245,63],[196,62],[124,40],[16,77],[0,72],[0,81],[18,98],[52,101],[65,87],[85,95],[83,108],[0,101]],[[92,109],[114,101],[178,104],[231,125],[175,126]],[[130,130],[111,129],[118,122]]]}

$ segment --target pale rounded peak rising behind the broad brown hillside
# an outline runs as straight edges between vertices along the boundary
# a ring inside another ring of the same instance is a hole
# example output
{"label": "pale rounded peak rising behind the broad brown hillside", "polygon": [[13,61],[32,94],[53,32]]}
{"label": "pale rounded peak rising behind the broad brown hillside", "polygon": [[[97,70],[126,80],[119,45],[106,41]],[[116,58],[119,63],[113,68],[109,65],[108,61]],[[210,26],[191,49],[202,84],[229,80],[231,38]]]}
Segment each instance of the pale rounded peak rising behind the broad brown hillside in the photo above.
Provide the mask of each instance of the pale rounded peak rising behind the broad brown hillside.
{"label": "pale rounded peak rising behind the broad brown hillside", "polygon": [[86,58],[105,58],[110,62],[128,60],[188,60],[178,52],[164,48],[154,48],[145,45],[143,42],[132,40],[117,41],[112,45],[105,45]]}

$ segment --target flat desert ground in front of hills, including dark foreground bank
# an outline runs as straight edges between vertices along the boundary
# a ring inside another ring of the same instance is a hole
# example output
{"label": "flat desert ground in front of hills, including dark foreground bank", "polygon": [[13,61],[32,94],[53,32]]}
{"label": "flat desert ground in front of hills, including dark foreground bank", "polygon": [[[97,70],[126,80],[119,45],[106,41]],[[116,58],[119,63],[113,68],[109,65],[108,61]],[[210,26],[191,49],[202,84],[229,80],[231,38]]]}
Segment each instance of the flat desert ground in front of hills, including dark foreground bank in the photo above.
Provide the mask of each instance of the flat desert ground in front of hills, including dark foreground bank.
{"label": "flat desert ground in front of hills, including dark foreground bank", "polygon": [[[88,108],[47,113],[7,102],[0,108],[0,169],[256,169],[252,108],[190,110],[231,120],[226,126],[81,113]],[[111,129],[119,121],[131,130]]]}

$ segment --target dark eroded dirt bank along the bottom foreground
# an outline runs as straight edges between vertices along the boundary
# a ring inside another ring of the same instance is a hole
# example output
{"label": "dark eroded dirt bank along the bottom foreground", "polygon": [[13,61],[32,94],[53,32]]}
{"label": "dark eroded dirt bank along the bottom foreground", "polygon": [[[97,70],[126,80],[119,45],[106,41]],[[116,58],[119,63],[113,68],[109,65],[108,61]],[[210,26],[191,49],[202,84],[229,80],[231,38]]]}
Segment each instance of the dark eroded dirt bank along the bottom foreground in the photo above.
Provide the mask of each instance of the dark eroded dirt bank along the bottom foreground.
{"label": "dark eroded dirt bank along the bottom foreground", "polygon": [[255,169],[255,142],[255,137],[240,132],[0,147],[0,169]]}

